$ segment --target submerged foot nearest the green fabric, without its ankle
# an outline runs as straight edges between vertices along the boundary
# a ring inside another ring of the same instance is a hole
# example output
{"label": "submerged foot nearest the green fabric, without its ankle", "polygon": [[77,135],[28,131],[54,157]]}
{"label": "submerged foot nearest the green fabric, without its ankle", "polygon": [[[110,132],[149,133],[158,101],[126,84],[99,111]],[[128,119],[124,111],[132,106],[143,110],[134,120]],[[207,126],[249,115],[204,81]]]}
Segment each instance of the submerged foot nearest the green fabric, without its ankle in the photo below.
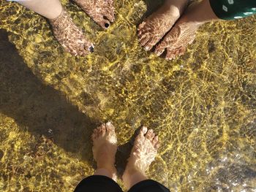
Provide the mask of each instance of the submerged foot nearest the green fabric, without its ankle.
{"label": "submerged foot nearest the green fabric, without its ankle", "polygon": [[189,11],[192,6],[193,4],[188,7],[184,15],[179,18],[162,42],[157,45],[154,53],[162,55],[166,50],[165,58],[167,60],[172,60],[176,58],[176,56],[185,53],[187,45],[195,40],[197,29],[201,26],[200,23],[189,21],[189,17],[187,17],[187,11]]}

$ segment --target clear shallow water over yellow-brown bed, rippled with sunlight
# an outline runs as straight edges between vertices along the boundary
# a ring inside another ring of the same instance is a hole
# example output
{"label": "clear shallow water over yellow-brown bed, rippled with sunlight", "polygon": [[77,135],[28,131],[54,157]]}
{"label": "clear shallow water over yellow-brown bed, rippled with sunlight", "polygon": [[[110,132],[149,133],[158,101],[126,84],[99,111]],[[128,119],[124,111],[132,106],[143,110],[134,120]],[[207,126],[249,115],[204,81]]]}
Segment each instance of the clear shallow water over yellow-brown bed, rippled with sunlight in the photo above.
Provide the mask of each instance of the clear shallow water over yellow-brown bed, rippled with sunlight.
{"label": "clear shallow water over yellow-brown bed, rippled with sunlight", "polygon": [[90,135],[106,120],[120,173],[143,124],[162,142],[148,175],[171,191],[256,190],[255,17],[209,23],[165,61],[136,38],[157,4],[116,1],[116,23],[102,31],[62,2],[97,45],[86,58],[64,53],[45,18],[0,1],[0,28],[18,50],[1,31],[0,191],[73,191],[93,173]]}

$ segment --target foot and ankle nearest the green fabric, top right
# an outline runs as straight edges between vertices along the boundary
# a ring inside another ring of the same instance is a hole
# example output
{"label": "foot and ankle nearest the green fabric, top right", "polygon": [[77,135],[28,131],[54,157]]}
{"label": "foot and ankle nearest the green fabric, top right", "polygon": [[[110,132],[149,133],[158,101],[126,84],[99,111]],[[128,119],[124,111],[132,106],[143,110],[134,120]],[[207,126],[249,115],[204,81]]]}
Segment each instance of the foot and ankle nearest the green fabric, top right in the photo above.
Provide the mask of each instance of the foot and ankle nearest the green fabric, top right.
{"label": "foot and ankle nearest the green fabric, top right", "polygon": [[162,42],[157,45],[154,53],[162,55],[166,50],[165,58],[168,60],[172,60],[178,55],[183,55],[187,45],[194,41],[197,28],[202,26],[203,23],[218,19],[211,9],[209,0],[189,5],[181,18],[162,39]]}

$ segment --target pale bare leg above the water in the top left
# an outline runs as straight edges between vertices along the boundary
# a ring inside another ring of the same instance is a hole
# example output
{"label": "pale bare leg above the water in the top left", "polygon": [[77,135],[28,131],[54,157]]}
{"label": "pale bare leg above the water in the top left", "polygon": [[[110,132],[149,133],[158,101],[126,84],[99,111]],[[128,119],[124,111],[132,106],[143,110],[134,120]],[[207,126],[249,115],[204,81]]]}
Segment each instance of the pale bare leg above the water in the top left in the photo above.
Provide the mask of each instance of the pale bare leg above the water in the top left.
{"label": "pale bare leg above the water in the top left", "polygon": [[48,19],[55,19],[61,15],[62,6],[59,0],[26,0],[18,1],[19,4],[37,12]]}

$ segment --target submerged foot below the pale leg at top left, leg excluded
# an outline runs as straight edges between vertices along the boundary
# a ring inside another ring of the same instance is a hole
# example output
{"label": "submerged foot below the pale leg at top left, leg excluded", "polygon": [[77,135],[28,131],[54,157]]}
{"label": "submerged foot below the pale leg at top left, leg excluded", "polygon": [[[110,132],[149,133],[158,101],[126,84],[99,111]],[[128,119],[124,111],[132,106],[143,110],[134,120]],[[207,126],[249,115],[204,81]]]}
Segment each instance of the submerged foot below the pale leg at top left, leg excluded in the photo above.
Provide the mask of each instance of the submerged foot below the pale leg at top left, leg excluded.
{"label": "submerged foot below the pale leg at top left, leg excluded", "polygon": [[83,32],[73,23],[63,8],[59,17],[50,20],[53,34],[64,49],[72,55],[88,55],[94,51],[94,45],[84,37]]}

